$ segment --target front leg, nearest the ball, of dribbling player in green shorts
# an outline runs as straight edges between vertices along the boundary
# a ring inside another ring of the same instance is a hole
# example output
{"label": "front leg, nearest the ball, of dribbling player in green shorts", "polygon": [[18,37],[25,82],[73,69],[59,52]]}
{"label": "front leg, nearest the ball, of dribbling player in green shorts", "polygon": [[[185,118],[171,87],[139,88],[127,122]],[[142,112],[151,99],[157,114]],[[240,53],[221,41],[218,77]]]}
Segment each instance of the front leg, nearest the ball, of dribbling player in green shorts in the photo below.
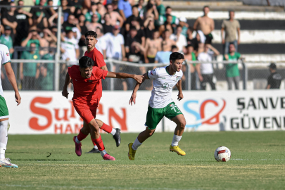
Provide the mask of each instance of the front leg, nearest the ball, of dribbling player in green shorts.
{"label": "front leg, nearest the ball, of dribbling player in green shorts", "polygon": [[182,139],[182,134],[185,129],[186,121],[181,110],[175,105],[174,102],[168,104],[165,110],[165,117],[169,118],[176,123],[175,132],[170,145],[170,151],[176,152],[178,155],[184,156],[185,152],[179,148],[178,143]]}

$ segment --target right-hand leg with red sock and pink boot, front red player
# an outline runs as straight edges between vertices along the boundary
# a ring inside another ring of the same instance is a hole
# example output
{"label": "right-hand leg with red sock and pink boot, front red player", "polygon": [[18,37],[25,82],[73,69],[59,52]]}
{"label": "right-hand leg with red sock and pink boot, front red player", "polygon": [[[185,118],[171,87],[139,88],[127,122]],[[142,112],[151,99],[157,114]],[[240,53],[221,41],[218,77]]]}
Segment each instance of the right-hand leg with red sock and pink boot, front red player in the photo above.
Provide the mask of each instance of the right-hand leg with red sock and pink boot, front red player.
{"label": "right-hand leg with red sock and pink boot, front red player", "polygon": [[105,146],[103,144],[103,141],[101,139],[101,135],[99,132],[99,125],[96,122],[95,119],[91,120],[88,123],[89,127],[90,127],[90,136],[92,141],[94,141],[94,143],[98,146],[98,149],[101,153],[101,156],[103,157],[104,160],[115,160],[115,158],[113,156],[110,156],[106,151],[105,151]]}

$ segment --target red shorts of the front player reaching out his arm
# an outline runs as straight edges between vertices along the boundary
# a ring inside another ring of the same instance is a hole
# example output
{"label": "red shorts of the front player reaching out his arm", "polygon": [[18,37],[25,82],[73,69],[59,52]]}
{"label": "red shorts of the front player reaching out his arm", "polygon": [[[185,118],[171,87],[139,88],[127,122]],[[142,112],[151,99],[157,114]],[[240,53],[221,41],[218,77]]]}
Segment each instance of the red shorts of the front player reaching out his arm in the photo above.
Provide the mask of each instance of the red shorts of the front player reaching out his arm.
{"label": "red shorts of the front player reaching out his arm", "polygon": [[81,103],[78,101],[73,101],[75,110],[87,124],[96,118],[98,104],[99,100],[97,100],[95,103]]}

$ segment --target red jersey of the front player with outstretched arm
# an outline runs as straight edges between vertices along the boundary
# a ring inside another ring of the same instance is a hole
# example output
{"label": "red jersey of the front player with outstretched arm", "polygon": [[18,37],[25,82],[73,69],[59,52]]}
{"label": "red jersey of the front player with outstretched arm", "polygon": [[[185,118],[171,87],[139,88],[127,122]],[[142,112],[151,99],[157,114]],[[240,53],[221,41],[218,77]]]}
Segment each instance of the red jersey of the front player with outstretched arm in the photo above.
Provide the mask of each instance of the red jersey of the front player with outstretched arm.
{"label": "red jersey of the front player with outstretched arm", "polygon": [[93,67],[90,78],[84,78],[80,75],[79,65],[72,65],[68,68],[68,74],[73,80],[73,101],[80,103],[97,103],[97,99],[101,98],[102,85],[101,79],[105,79],[108,70]]}

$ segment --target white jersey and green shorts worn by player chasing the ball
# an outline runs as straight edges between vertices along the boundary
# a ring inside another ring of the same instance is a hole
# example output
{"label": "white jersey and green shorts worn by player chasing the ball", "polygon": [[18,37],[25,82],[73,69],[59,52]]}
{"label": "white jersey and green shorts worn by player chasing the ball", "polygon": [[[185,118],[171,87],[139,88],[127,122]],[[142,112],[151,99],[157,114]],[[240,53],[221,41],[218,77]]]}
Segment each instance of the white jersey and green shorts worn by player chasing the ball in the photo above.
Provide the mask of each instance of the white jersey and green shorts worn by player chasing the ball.
{"label": "white jersey and green shorts worn by player chasing the ball", "polygon": [[163,116],[171,120],[176,115],[182,114],[172,100],[172,88],[181,80],[183,72],[180,70],[174,75],[170,75],[165,66],[149,70],[147,74],[149,79],[153,79],[153,90],[148,101],[145,125],[149,129],[155,129]]}

